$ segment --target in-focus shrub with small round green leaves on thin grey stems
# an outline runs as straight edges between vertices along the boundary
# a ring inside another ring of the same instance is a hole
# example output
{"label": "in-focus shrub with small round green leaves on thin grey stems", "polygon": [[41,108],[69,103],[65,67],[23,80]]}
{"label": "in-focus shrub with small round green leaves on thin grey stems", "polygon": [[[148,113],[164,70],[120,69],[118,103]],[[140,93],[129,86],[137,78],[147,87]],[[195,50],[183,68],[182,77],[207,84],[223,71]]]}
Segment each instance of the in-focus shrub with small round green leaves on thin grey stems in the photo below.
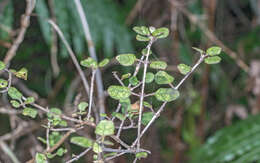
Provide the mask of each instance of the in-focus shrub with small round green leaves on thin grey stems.
{"label": "in-focus shrub with small round green leaves on thin grey stems", "polygon": [[[151,152],[149,149],[142,148],[141,138],[160,116],[165,105],[180,96],[180,86],[203,61],[206,64],[216,64],[221,60],[218,56],[221,52],[219,47],[211,47],[206,51],[194,48],[200,54],[199,60],[194,66],[185,64],[177,66],[184,77],[174,86],[174,77],[165,71],[167,64],[164,61],[150,60],[153,43],[158,39],[167,37],[169,30],[145,26],[134,27],[133,30],[137,33],[136,39],[147,42],[147,46],[142,50],[141,56],[126,53],[116,57],[121,66],[134,66],[135,69],[132,73],[122,74],[121,76],[118,75],[118,72],[113,73],[119,84],[110,85],[107,89],[108,95],[118,104],[116,108],[110,109],[113,110],[112,113],[97,114],[98,106],[94,100],[94,80],[97,69],[108,64],[108,59],[98,63],[89,57],[80,62],[81,66],[92,71],[89,92],[87,92],[89,100],[79,103],[78,110],[73,114],[73,117],[65,115],[62,109],[45,108],[36,104],[33,97],[25,97],[18,89],[11,86],[11,80],[12,75],[26,80],[27,69],[9,70],[3,62],[0,62],[1,71],[9,74],[8,81],[1,79],[1,93],[8,93],[11,105],[17,109],[21,108],[22,114],[30,118],[37,118],[39,111],[47,115],[47,124],[43,125],[46,129],[46,137],[38,138],[46,145],[46,149],[36,154],[35,160],[37,163],[47,162],[47,159],[52,159],[55,156],[63,156],[67,152],[62,145],[63,142],[72,133],[76,133],[85,126],[94,128],[96,137],[94,139],[80,135],[72,136],[70,142],[84,148],[84,151],[73,155],[67,163],[80,159],[91,150],[94,152],[94,162],[106,162],[123,154],[135,155],[134,162],[146,158]],[[141,68],[143,71],[140,71]],[[149,72],[150,68],[158,70],[157,73]],[[139,75],[141,79],[138,78]],[[155,92],[146,93],[146,85],[153,82],[160,87]],[[155,97],[161,104],[159,108],[156,109],[147,102],[152,97]],[[137,105],[134,105],[134,101],[137,101]],[[131,145],[125,143],[122,136],[122,133],[129,129],[137,130],[135,140]],[[62,134],[63,132],[65,134]],[[115,148],[115,143],[120,145],[120,148]]]}

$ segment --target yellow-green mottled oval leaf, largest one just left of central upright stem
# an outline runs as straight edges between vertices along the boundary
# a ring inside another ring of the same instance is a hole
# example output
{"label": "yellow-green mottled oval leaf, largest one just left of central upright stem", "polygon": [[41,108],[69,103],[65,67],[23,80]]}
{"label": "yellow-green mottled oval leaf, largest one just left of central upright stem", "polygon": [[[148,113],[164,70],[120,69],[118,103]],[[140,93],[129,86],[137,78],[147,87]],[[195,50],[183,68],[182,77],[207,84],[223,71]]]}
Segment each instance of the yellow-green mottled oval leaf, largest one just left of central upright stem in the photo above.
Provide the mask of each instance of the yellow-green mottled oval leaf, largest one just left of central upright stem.
{"label": "yellow-green mottled oval leaf, largest one just left of central upright stem", "polygon": [[131,90],[129,88],[118,85],[111,85],[108,88],[107,92],[110,97],[116,100],[126,99],[131,95]]}

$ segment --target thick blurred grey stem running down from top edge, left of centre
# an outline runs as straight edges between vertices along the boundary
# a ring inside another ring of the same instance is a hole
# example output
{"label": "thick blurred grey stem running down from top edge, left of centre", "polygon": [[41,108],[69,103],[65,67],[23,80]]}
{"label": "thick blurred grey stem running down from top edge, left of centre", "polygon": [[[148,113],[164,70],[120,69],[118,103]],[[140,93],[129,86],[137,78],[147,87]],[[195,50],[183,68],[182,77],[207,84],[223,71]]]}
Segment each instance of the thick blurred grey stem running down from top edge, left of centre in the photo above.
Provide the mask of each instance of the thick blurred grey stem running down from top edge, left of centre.
{"label": "thick blurred grey stem running down from top edge, left of centre", "polygon": [[[74,2],[76,4],[77,11],[79,13],[81,23],[83,26],[85,38],[88,43],[89,54],[92,58],[94,58],[97,61],[97,55],[96,55],[94,43],[92,41],[91,33],[89,30],[89,25],[88,25],[84,10],[82,8],[80,0],[74,0]],[[102,80],[102,76],[101,76],[101,71],[99,69],[97,69],[96,84],[97,84],[97,91],[98,91],[98,104],[99,104],[98,106],[99,106],[100,113],[105,113],[105,96],[104,96],[104,86],[103,86],[102,81],[103,80]]]}

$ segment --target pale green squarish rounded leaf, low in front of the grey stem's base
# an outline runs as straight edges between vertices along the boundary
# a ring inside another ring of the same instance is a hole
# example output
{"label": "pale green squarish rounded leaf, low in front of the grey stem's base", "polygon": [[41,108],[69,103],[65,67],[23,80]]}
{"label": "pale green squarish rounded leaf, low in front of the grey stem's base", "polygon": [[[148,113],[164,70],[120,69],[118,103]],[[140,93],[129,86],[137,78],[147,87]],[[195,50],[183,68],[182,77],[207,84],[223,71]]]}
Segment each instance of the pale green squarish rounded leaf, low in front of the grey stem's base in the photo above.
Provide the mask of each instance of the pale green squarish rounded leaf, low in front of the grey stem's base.
{"label": "pale green squarish rounded leaf, low in front of the grey stem's base", "polygon": [[98,123],[95,133],[101,136],[113,135],[115,132],[115,126],[112,121],[102,120]]}

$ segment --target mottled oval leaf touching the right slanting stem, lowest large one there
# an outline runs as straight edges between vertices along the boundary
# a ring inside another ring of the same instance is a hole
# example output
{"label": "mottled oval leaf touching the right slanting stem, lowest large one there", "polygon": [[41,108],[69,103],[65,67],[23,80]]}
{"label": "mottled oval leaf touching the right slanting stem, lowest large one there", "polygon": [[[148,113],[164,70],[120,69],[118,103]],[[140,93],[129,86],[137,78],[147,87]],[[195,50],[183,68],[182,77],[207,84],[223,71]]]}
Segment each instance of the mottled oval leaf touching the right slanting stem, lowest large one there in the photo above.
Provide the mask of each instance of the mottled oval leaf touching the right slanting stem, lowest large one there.
{"label": "mottled oval leaf touching the right slanting stem, lowest large one there", "polygon": [[156,99],[164,102],[171,102],[176,100],[179,96],[179,91],[172,88],[159,88],[155,92]]}

